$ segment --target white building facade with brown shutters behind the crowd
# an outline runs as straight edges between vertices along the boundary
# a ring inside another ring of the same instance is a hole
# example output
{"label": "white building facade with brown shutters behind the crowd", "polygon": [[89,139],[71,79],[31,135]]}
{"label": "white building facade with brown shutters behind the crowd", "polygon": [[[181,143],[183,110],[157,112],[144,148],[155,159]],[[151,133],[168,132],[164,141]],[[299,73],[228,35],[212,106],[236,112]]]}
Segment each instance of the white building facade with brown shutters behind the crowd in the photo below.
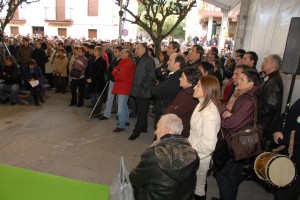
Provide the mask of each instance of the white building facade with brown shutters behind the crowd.
{"label": "white building facade with brown shutters behind the crowd", "polygon": [[[136,0],[130,1],[129,9],[137,13]],[[23,3],[5,32],[7,35],[41,34],[117,39],[119,10],[120,7],[114,0],[40,0],[29,5]],[[5,15],[6,13],[2,13],[1,17]],[[124,13],[123,18],[132,20],[128,13]],[[137,25],[124,21],[123,30],[122,39],[136,39]]]}

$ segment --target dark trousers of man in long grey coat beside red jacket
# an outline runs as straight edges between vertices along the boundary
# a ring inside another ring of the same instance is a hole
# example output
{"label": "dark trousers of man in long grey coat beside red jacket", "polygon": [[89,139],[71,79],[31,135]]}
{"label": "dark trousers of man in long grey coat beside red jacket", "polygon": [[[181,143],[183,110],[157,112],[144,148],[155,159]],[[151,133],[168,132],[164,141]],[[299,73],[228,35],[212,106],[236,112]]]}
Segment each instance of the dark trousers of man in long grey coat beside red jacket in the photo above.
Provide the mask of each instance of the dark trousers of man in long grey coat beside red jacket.
{"label": "dark trousers of man in long grey coat beside red jacket", "polygon": [[141,133],[148,128],[148,109],[150,106],[150,98],[135,97],[136,105],[136,124],[135,133]]}

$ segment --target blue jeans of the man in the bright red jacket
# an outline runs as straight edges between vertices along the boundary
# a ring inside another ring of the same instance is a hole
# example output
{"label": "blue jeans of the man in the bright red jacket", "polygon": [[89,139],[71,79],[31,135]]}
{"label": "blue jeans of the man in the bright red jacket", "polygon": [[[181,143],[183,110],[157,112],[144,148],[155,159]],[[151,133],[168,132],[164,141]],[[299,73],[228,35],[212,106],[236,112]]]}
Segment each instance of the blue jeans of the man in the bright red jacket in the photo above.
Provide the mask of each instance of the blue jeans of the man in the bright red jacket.
{"label": "blue jeans of the man in the bright red jacket", "polygon": [[125,128],[125,123],[129,119],[129,112],[128,112],[128,95],[118,94],[118,120],[119,120],[119,128]]}

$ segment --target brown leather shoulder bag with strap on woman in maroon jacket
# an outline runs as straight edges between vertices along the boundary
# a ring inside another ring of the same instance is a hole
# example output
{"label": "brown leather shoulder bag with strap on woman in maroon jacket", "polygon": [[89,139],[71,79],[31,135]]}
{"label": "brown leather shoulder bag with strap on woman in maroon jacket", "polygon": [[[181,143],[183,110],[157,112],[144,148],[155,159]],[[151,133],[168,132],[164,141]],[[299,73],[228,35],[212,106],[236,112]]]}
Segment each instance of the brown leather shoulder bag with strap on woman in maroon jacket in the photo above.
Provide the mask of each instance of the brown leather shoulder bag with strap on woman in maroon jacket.
{"label": "brown leather shoulder bag with strap on woman in maroon jacket", "polygon": [[263,152],[262,150],[262,127],[257,126],[257,105],[254,102],[254,124],[236,132],[230,131],[231,148],[234,154],[234,160],[242,160],[256,156]]}

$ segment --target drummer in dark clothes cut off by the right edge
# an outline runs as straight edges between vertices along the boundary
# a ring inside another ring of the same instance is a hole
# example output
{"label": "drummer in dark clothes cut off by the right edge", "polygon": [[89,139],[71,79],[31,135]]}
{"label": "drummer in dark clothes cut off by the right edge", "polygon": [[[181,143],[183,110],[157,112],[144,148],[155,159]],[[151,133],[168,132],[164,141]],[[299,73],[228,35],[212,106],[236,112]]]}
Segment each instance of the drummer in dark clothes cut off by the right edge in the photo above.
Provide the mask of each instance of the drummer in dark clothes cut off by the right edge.
{"label": "drummer in dark clothes cut off by the right edge", "polygon": [[[293,149],[293,156],[291,157],[291,160],[295,163],[297,172],[300,172],[300,99],[298,99],[294,105],[291,107],[286,123],[284,126],[284,129],[282,131],[282,125],[283,124],[284,116],[281,116],[281,123],[276,123],[277,127],[275,127],[275,133],[274,141],[276,144],[285,145],[286,148],[284,148],[285,152],[280,152],[285,155],[288,151],[288,146],[290,142],[290,135],[292,131],[295,131],[295,139],[294,139],[294,149]],[[296,176],[296,180],[291,183],[291,185],[284,187],[284,188],[278,188],[275,192],[275,200],[298,200],[300,192],[300,176]]]}

